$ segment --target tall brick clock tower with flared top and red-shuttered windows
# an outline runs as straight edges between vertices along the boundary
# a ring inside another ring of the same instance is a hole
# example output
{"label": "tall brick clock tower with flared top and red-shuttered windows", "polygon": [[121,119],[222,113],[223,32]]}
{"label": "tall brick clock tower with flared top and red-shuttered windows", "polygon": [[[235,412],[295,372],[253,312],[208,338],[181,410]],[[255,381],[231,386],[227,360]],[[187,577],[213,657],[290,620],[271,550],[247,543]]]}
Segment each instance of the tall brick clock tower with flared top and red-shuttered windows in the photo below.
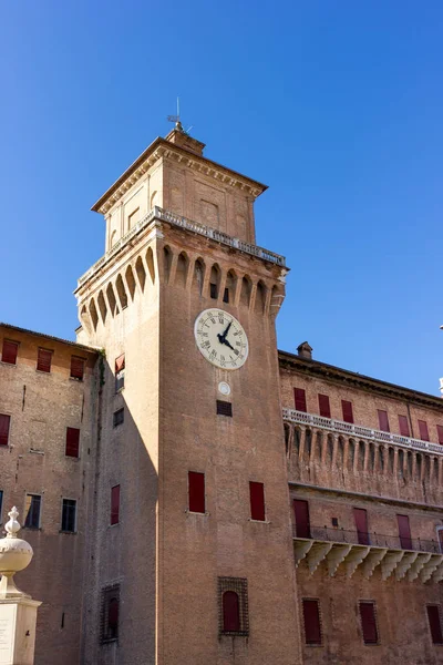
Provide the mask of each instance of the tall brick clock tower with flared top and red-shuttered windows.
{"label": "tall brick clock tower with flared top and red-shuttered windows", "polygon": [[89,665],[300,662],[265,186],[177,123],[100,198],[79,341],[104,349],[84,596]]}

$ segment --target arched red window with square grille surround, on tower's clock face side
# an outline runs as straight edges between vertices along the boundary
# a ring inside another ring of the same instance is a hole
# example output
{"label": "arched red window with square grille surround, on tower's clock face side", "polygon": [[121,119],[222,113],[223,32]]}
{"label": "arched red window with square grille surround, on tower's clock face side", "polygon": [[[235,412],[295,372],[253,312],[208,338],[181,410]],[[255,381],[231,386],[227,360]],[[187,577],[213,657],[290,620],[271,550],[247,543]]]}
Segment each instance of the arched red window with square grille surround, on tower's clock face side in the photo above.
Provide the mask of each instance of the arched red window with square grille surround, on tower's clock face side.
{"label": "arched red window with square grille surround, on tower's clock face side", "polygon": [[218,632],[220,635],[249,635],[248,581],[218,577]]}

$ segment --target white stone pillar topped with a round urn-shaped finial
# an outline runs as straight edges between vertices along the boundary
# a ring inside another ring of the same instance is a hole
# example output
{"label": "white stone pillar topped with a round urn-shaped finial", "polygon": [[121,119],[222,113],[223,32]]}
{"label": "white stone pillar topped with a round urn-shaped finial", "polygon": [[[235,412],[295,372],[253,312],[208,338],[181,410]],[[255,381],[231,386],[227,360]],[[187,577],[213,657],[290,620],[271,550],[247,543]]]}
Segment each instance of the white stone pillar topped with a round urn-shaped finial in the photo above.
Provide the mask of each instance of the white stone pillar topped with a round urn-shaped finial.
{"label": "white stone pillar topped with a round urn-shaped finial", "polygon": [[13,576],[31,563],[33,552],[17,536],[19,512],[13,508],[0,540],[0,665],[33,665],[37,610],[41,605],[17,589]]}

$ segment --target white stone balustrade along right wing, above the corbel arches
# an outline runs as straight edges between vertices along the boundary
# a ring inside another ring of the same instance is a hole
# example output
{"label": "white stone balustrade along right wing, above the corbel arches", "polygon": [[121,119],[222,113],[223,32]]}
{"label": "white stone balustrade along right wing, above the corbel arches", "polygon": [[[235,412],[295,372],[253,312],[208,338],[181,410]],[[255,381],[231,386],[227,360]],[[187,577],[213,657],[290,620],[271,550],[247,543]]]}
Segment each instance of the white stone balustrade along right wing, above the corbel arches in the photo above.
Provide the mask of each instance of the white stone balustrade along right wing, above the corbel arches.
{"label": "white stone balustrade along right wing, above the corbel arches", "polygon": [[282,409],[282,413],[284,420],[289,422],[308,424],[340,434],[348,434],[349,437],[361,437],[363,439],[372,439],[383,443],[393,443],[395,446],[402,446],[403,448],[420,450],[422,452],[443,454],[443,446],[439,443],[430,443],[429,441],[421,441],[420,439],[411,439],[410,437],[369,429],[368,427],[344,422],[343,420],[333,420],[332,418],[324,418],[323,416],[317,416],[316,413],[305,413],[305,411],[297,411],[296,409],[286,408]]}

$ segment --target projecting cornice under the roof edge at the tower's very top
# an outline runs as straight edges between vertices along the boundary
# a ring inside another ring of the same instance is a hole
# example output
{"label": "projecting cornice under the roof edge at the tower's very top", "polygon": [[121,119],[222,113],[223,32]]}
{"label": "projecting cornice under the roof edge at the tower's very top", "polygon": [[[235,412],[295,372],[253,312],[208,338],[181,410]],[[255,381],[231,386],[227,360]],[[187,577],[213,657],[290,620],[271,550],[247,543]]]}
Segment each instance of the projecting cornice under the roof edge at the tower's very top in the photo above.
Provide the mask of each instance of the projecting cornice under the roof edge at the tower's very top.
{"label": "projecting cornice under the roof edge at the tower's very top", "polygon": [[92,206],[95,213],[103,215],[153,166],[161,157],[175,160],[184,166],[213,177],[215,181],[247,192],[256,198],[267,186],[254,181],[217,162],[196,155],[159,136],[135,160],[117,181]]}

